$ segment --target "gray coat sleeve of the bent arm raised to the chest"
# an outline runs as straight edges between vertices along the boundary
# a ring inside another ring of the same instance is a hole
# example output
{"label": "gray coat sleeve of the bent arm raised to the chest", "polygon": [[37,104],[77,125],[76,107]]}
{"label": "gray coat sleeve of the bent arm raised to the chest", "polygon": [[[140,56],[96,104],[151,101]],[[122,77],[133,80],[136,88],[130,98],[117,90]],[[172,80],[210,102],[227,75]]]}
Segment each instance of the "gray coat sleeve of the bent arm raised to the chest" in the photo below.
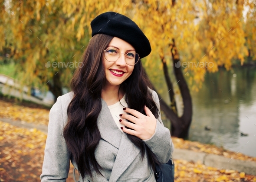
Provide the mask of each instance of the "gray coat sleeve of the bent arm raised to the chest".
{"label": "gray coat sleeve of the bent arm raised to the chest", "polygon": [[[158,107],[158,110],[160,111],[158,94],[154,90],[152,90],[152,96]],[[151,138],[142,141],[148,145],[151,151],[158,157],[160,162],[167,163],[173,153],[174,145],[171,140],[169,129],[164,127],[161,114],[159,114],[157,121],[158,122],[156,125],[155,133]]]}

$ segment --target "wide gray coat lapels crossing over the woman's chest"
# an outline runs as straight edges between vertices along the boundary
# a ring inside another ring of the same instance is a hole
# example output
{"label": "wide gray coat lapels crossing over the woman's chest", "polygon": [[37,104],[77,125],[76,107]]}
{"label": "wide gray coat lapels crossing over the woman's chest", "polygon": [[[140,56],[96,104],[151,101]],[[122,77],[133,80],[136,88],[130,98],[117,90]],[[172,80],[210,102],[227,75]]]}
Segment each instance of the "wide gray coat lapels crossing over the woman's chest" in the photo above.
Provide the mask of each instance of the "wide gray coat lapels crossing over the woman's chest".
{"label": "wide gray coat lapels crossing over the woman's chest", "polygon": [[101,101],[102,110],[98,117],[98,129],[102,139],[118,148],[118,153],[109,178],[109,182],[115,182],[141,151],[131,142],[125,132],[122,133],[119,130],[108,109],[107,103],[102,98]]}

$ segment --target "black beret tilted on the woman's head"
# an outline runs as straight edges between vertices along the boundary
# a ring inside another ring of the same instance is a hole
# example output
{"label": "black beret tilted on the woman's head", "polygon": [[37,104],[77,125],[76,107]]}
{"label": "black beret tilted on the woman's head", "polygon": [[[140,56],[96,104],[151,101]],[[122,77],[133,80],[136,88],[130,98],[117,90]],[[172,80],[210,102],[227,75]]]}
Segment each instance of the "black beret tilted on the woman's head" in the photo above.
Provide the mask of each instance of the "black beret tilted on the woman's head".
{"label": "black beret tilted on the woman's head", "polygon": [[92,37],[98,33],[121,38],[131,44],[141,58],[151,52],[148,38],[141,29],[128,17],[115,12],[98,15],[91,22]]}

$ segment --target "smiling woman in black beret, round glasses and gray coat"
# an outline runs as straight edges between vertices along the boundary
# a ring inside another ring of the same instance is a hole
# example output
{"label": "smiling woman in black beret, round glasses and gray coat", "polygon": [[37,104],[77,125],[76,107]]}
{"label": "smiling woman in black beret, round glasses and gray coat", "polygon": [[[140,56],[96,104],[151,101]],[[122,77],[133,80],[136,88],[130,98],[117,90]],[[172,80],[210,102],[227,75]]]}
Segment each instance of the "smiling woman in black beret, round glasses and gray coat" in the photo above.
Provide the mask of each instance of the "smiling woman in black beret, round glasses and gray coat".
{"label": "smiling woman in black beret, round glasses and gray coat", "polygon": [[65,182],[71,160],[80,182],[156,182],[155,164],[170,159],[173,144],[140,60],[151,52],[148,38],[114,12],[91,27],[72,92],[50,110],[40,179]]}

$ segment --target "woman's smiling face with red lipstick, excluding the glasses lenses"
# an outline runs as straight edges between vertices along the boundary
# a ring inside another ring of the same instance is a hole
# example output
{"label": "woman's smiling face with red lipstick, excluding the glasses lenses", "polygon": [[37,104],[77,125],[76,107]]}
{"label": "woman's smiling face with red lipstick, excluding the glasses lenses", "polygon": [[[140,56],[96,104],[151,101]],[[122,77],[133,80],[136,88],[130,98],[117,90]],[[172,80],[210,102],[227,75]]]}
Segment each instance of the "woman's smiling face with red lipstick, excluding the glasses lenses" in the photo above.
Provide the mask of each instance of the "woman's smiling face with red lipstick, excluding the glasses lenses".
{"label": "woman's smiling face with red lipstick, excluding the glasses lenses", "polygon": [[[107,48],[109,47],[118,49],[120,53],[125,54],[131,51],[135,52],[135,48],[133,48],[128,42],[125,42],[124,40],[117,37],[114,37],[112,39]],[[106,75],[106,86],[119,86],[128,77],[130,77],[135,65],[130,66],[126,64],[125,54],[120,54],[120,57],[115,62],[109,62],[103,56]],[[117,71],[118,73],[115,71]]]}

